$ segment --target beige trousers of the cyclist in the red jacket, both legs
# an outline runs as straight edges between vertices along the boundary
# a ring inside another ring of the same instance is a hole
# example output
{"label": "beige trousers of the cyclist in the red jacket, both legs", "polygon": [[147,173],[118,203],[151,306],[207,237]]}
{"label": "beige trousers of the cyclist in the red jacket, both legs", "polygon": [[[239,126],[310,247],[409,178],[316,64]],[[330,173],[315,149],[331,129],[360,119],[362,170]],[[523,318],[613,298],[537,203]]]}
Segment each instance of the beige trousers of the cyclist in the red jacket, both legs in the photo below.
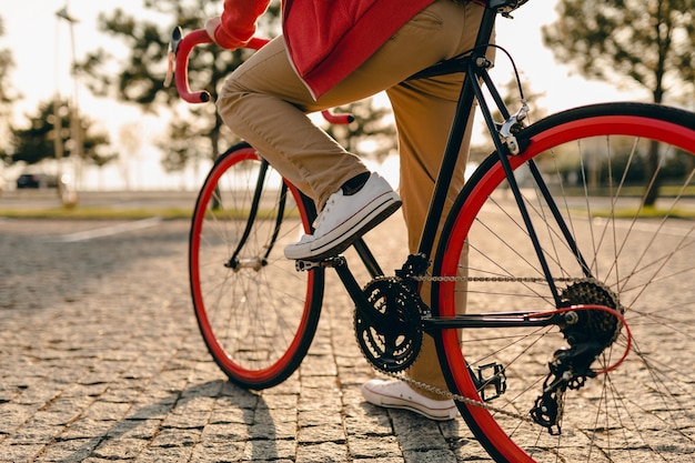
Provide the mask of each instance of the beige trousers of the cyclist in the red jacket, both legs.
{"label": "beige trousers of the cyclist in the red jacket, both legs", "polygon": [[[462,84],[462,74],[405,81],[415,72],[472,48],[483,9],[465,1],[437,0],[403,26],[364,64],[314,101],[294,72],[282,38],[238,68],[218,99],[224,122],[246,140],[319,208],[354,175],[366,172],[305,115],[385,90],[395,117],[401,158],[400,194],[410,252],[417,250],[430,198]],[[454,172],[450,201],[464,181],[470,130]],[[429,294],[423,291],[429,303]],[[464,310],[462,306],[461,310]],[[409,371],[411,378],[445,387],[433,341]],[[423,391],[421,391],[423,392]],[[433,399],[440,396],[423,392]]]}

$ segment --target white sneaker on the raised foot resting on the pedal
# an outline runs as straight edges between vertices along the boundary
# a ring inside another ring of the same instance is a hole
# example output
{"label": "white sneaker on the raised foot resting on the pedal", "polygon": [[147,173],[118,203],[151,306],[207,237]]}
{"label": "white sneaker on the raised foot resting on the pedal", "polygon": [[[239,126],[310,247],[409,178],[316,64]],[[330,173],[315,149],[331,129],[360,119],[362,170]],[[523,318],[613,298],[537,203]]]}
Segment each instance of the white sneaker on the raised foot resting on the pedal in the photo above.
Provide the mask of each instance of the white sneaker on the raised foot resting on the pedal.
{"label": "white sneaker on the raised foot resting on the pedal", "polygon": [[401,198],[376,172],[360,191],[331,194],[314,222],[314,233],[285,246],[288,259],[320,260],[338,255],[401,207]]}

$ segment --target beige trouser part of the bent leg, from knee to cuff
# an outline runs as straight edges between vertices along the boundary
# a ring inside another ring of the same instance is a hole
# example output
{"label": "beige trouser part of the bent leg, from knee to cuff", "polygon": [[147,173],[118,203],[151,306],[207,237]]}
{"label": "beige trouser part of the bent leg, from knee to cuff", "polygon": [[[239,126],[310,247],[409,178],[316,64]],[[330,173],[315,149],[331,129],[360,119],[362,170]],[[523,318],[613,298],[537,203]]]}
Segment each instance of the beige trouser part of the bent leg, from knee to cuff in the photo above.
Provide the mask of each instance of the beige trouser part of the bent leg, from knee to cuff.
{"label": "beige trouser part of the bent leg, from knee to cuff", "polygon": [[282,37],[239,67],[218,98],[225,124],[322,209],[345,181],[367,169],[305,115],[313,105]]}

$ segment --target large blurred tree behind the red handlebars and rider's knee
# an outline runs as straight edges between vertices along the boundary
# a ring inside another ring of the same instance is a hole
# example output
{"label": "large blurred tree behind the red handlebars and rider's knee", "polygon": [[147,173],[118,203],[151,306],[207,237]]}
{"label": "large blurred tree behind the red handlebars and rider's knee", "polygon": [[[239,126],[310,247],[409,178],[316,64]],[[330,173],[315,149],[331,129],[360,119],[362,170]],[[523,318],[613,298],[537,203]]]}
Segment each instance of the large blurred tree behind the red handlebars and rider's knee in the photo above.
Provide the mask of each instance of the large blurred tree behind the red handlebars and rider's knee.
{"label": "large blurred tree behind the red handlebars and rider's knee", "polygon": [[[184,31],[200,29],[205,18],[222,11],[222,2],[145,0],[144,7],[157,14],[157,20],[137,20],[121,9],[99,18],[99,29],[122,41],[129,50],[129,57],[119,64],[120,70],[113,72],[115,57],[103,49],[91,52],[79,68],[93,93],[115,97],[145,111],[157,112],[162,105],[183,105],[177,90],[163,85],[173,27],[181,26]],[[259,24],[262,34],[271,37],[278,32],[279,13],[280,3],[274,2]],[[219,83],[250,53],[249,50],[230,51],[215,46],[198,47],[190,57],[191,88],[207,90],[215,98]],[[224,130],[213,104],[187,105],[185,111],[187,117],[175,118],[169,128],[171,142],[160,143],[167,169],[182,168],[190,159],[200,157],[201,151],[207,158],[215,159],[221,149],[232,142],[233,137]]]}

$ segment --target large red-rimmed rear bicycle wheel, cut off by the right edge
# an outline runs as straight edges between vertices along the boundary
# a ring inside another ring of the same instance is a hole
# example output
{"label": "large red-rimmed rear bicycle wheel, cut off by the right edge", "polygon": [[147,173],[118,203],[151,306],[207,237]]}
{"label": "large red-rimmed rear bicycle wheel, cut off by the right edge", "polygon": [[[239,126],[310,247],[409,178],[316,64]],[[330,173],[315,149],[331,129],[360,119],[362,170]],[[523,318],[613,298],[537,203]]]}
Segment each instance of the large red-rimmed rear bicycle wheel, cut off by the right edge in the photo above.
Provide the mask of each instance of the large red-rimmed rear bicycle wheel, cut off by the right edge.
{"label": "large red-rimmed rear bicycle wheel, cut off by the right edge", "polygon": [[[435,285],[439,315],[555,311],[558,294],[566,304],[620,308],[632,346],[620,363],[627,342],[618,328],[593,362],[596,378],[543,402],[556,405],[552,431],[560,434],[552,435],[530,412],[548,385],[548,361],[567,346],[566,331],[443,330],[440,359],[452,392],[480,402],[472,372],[494,371],[485,365],[497,365],[506,381],[506,391],[486,404],[492,410],[459,403],[463,417],[500,462],[693,461],[695,115],[652,104],[591,105],[548,117],[517,137],[528,144],[511,163],[553,284],[494,154],[445,225],[434,264],[434,276],[449,280]],[[586,332],[612,320],[598,318]]]}

